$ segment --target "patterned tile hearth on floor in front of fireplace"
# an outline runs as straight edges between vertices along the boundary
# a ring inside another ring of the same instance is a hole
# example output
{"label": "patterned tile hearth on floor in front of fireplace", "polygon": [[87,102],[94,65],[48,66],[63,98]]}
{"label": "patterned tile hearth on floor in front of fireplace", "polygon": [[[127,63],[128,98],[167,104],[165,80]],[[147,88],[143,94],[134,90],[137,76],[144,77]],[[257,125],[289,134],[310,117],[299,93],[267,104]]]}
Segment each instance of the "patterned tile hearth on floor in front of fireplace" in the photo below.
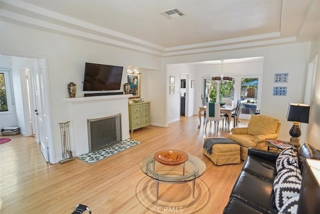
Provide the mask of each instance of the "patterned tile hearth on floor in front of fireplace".
{"label": "patterned tile hearth on floor in front of fireplace", "polygon": [[110,146],[108,148],[104,148],[102,150],[98,150],[95,152],[88,152],[85,154],[81,154],[81,155],[77,156],[77,158],[79,158],[80,160],[83,160],[84,162],[86,162],[88,164],[91,164],[91,163],[94,163],[98,160],[102,160],[106,157],[109,157],[113,154],[119,153],[125,149],[131,148],[132,146],[135,146],[138,144],[140,144],[139,141],[126,139],[126,140],[122,140],[121,142],[119,142],[118,144],[116,144],[114,146]]}

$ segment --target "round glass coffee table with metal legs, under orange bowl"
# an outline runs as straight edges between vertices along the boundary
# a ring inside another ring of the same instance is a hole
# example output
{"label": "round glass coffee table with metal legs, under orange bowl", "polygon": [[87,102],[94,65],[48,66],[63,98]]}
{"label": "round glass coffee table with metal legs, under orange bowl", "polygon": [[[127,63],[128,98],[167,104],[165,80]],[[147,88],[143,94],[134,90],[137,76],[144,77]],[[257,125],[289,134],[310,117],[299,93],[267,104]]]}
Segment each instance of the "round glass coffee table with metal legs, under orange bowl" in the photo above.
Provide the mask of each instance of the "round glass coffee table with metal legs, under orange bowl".
{"label": "round glass coffee table with metal legs, under orange bowl", "polygon": [[188,154],[188,159],[179,165],[164,165],[154,158],[154,154],[144,157],[140,163],[144,174],[155,180],[156,200],[159,194],[159,182],[179,184],[192,181],[192,197],[194,198],[195,179],[206,169],[205,163],[197,156]]}

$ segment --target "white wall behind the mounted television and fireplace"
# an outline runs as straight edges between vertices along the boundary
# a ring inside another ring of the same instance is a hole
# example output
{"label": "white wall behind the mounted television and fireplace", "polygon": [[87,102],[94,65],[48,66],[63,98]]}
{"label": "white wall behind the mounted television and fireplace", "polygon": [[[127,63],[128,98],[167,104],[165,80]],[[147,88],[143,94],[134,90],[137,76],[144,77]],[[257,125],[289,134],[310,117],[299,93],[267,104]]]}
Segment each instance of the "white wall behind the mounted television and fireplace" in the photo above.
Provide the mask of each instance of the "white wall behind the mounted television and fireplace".
{"label": "white wall behind the mounted television and fireplace", "polygon": [[[0,52],[31,53],[32,55],[46,56],[53,142],[57,145],[60,143],[58,123],[70,120],[68,111],[65,111],[67,103],[63,101],[63,98],[68,97],[67,84],[74,82],[77,85],[76,97],[83,96],[81,81],[83,80],[85,62],[123,66],[122,85],[126,82],[127,66],[160,70],[160,59],[158,57],[138,52],[73,39],[5,22],[0,22],[0,32]],[[119,91],[123,92],[123,87]],[[151,93],[151,95],[153,94]],[[164,101],[165,99],[162,100]],[[156,99],[153,100],[152,105],[156,106],[157,102],[161,103]],[[164,104],[159,104],[158,106],[161,105]],[[54,160],[53,162],[61,159],[61,151],[58,147],[54,148],[56,155],[51,157]]]}

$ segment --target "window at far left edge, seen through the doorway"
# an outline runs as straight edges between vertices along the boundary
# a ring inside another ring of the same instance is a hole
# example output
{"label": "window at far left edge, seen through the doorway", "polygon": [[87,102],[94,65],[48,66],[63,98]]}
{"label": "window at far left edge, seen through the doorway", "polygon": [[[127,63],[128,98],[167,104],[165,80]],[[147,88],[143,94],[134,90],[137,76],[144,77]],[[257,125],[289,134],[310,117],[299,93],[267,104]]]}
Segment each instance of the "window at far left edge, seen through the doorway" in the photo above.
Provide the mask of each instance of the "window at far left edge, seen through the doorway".
{"label": "window at far left edge, seen through the doorway", "polygon": [[0,113],[10,111],[9,72],[0,70]]}

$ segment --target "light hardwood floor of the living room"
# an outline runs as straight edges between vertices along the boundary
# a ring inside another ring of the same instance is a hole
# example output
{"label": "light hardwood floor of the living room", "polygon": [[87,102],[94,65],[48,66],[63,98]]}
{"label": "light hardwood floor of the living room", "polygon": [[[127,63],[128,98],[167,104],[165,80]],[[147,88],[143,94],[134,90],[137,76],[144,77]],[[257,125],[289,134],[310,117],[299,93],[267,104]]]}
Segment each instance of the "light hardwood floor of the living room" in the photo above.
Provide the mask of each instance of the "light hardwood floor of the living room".
{"label": "light hardwood floor of the living room", "polygon": [[[238,123],[246,126],[247,121]],[[88,165],[81,160],[64,164],[45,163],[33,137],[1,136],[12,140],[0,145],[0,213],[71,213],[77,203],[92,213],[221,213],[240,164],[216,166],[202,154],[203,138],[226,136],[219,126],[198,129],[198,117],[184,117],[168,128],[150,126],[134,130],[130,138],[141,143]],[[232,123],[230,127],[232,127]],[[57,139],[59,140],[59,139]],[[139,168],[147,154],[163,149],[179,149],[200,157],[205,173],[191,183],[159,184],[155,201],[155,181]]]}

